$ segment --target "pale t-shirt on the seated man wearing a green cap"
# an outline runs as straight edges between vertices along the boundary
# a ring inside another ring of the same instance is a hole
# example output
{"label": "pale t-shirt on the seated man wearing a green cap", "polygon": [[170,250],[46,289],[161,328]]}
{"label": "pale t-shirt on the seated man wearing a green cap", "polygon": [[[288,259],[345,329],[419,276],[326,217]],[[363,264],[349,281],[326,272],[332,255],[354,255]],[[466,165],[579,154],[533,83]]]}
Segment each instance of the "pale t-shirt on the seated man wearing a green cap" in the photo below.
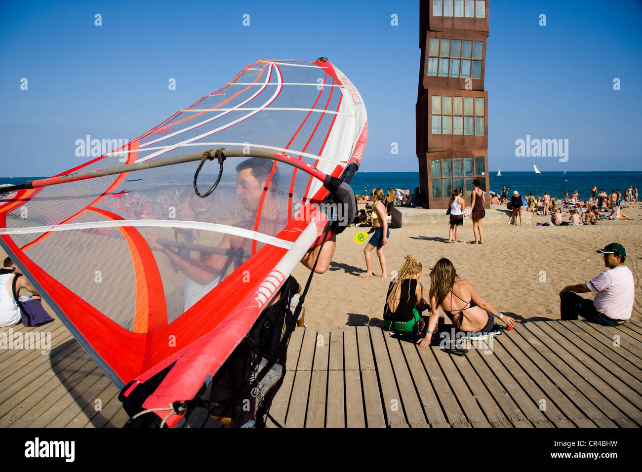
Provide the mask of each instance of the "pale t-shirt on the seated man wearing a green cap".
{"label": "pale t-shirt on the seated man wearing a green cap", "polygon": [[614,320],[628,320],[633,311],[635,283],[624,265],[605,270],[586,286],[596,293],[593,304],[597,311]]}

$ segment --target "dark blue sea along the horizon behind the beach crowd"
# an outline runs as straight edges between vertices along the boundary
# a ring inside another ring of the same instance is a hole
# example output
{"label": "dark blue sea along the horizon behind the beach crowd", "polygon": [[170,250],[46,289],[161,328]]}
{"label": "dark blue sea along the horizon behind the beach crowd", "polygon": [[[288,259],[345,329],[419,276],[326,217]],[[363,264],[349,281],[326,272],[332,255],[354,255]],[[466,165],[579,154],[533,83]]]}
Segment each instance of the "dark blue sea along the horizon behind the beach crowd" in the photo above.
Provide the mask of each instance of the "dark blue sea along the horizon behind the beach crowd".
{"label": "dark blue sea along the horizon behind the beach crowd", "polygon": [[[49,177],[49,176],[47,176]],[[27,180],[45,179],[46,177],[0,177],[2,184],[22,184]],[[419,187],[419,172],[358,172],[352,179],[354,193],[370,193],[373,187],[382,189],[400,188],[410,189],[413,192]],[[642,171],[621,171],[621,172],[496,172],[490,173],[490,190],[499,193],[503,186],[508,189],[510,195],[517,190],[523,197],[529,192],[533,195],[544,195],[548,192],[551,197],[564,197],[564,190],[571,194],[578,191],[580,200],[588,200],[590,191],[596,185],[598,192],[601,189],[611,192],[624,189],[629,186],[636,186],[642,191]]]}

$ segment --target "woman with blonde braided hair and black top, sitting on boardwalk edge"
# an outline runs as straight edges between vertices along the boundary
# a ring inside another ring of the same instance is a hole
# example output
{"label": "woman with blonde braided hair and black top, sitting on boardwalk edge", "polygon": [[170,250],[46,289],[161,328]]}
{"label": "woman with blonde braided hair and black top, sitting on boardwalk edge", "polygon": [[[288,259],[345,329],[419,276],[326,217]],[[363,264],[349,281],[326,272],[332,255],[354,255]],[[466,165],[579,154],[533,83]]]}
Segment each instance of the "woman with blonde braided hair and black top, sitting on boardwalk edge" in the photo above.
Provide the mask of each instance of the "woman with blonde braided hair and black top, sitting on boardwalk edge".
{"label": "woman with blonde braided hair and black top, sitting on boardwalk edge", "polygon": [[[406,256],[403,267],[388,287],[386,304],[383,308],[383,326],[390,331],[412,332],[421,311],[428,308],[424,300],[421,283],[421,263],[412,256]],[[392,327],[390,326],[392,324]]]}

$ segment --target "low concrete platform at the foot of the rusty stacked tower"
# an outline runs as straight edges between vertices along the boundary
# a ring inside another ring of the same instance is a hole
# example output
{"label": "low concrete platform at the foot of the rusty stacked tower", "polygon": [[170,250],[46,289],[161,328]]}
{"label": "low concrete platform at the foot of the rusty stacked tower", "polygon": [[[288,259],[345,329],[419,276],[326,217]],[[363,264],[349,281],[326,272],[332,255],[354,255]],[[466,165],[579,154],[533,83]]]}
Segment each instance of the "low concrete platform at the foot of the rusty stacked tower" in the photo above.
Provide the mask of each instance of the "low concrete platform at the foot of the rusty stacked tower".
{"label": "low concrete platform at the foot of the rusty stacked tower", "polygon": [[[485,225],[505,225],[512,214],[504,205],[490,205],[491,207],[486,210],[486,216],[483,218]],[[537,222],[549,221],[548,218],[540,216],[535,220],[532,214],[524,211],[522,215],[523,223],[525,225],[532,225]],[[419,226],[419,225],[447,225],[450,216],[446,214],[445,209],[423,209],[423,208],[404,208],[394,207],[392,209],[392,223],[394,228],[401,228],[405,226]],[[470,218],[465,218],[465,222],[472,222]]]}

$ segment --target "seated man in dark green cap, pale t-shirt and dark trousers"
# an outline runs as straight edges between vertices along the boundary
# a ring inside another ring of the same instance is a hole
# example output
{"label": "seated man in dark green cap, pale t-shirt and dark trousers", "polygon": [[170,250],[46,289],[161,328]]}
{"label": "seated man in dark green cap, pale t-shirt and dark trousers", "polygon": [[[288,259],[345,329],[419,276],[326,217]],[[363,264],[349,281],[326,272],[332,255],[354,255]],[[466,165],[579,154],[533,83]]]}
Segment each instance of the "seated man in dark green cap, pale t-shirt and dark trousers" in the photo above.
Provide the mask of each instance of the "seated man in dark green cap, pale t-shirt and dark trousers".
{"label": "seated man in dark green cap, pale t-shirt and dark trousers", "polygon": [[[624,265],[627,251],[620,243],[611,243],[597,252],[603,254],[609,268],[586,284],[567,285],[560,292],[562,320],[577,320],[578,315],[602,326],[619,326],[631,317],[635,283]],[[576,293],[593,292],[593,301]]]}

